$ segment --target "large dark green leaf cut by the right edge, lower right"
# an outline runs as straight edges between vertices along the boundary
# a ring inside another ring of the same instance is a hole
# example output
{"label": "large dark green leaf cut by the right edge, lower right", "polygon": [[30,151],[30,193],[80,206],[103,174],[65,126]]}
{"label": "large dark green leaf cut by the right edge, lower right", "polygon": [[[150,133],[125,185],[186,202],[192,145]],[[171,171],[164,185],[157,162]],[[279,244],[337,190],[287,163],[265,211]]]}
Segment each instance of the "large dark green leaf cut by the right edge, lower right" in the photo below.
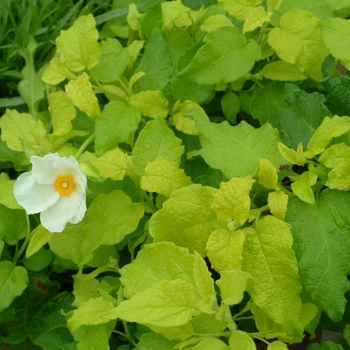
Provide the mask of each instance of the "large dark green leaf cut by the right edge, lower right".
{"label": "large dark green leaf cut by the right edge, lower right", "polygon": [[327,189],[315,205],[293,200],[286,215],[303,284],[334,321],[341,319],[350,290],[349,208],[348,193]]}

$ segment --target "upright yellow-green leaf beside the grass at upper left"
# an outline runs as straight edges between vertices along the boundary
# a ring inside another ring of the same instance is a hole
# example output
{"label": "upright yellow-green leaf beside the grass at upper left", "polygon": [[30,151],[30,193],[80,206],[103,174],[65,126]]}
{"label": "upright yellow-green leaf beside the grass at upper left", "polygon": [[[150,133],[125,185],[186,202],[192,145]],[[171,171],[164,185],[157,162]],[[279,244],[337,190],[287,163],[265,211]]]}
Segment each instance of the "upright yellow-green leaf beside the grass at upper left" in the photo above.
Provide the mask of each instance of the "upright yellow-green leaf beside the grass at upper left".
{"label": "upright yellow-green leaf beside the grass at upper left", "polygon": [[60,60],[73,72],[91,69],[101,57],[97,39],[93,15],[79,17],[71,28],[62,30],[56,39]]}

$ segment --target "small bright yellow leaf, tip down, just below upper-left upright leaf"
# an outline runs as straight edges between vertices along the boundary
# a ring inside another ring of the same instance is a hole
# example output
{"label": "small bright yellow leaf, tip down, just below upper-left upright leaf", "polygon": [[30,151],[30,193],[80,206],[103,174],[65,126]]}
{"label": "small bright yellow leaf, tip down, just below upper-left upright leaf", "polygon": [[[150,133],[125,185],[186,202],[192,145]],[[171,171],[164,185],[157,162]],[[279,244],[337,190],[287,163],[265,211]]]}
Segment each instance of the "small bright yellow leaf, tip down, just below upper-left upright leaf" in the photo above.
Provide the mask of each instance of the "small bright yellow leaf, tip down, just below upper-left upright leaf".
{"label": "small bright yellow leaf, tip down, just below upper-left upright leaf", "polygon": [[67,96],[81,111],[91,118],[97,118],[100,115],[100,107],[86,73],[71,80],[65,88]]}

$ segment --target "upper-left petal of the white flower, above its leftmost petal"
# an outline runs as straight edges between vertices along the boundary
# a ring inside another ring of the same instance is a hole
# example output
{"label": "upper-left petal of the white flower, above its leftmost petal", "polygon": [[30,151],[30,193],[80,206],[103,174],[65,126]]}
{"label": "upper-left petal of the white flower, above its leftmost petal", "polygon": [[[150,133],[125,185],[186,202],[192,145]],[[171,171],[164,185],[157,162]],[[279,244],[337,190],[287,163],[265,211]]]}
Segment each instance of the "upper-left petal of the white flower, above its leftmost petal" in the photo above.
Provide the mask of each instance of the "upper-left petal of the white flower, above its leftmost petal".
{"label": "upper-left petal of the white flower, above its leftmost petal", "polygon": [[57,169],[54,168],[54,163],[60,157],[50,153],[44,157],[32,156],[30,162],[33,164],[32,174],[34,179],[40,184],[53,184],[59,175]]}

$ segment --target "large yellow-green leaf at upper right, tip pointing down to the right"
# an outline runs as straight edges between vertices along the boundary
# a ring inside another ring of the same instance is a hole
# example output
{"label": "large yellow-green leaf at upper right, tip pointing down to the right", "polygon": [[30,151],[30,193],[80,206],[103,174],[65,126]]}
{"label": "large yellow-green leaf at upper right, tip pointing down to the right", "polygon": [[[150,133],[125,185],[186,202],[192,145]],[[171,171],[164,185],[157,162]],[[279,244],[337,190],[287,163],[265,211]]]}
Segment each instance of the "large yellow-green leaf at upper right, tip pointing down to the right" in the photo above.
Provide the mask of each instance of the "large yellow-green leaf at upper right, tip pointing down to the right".
{"label": "large yellow-green leaf at upper right, tip pointing down to the right", "polygon": [[283,61],[316,81],[323,78],[322,63],[329,51],[323,44],[320,22],[311,12],[293,9],[285,13],[280,27],[269,33],[268,42]]}

